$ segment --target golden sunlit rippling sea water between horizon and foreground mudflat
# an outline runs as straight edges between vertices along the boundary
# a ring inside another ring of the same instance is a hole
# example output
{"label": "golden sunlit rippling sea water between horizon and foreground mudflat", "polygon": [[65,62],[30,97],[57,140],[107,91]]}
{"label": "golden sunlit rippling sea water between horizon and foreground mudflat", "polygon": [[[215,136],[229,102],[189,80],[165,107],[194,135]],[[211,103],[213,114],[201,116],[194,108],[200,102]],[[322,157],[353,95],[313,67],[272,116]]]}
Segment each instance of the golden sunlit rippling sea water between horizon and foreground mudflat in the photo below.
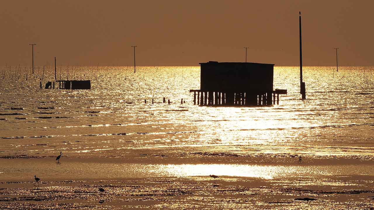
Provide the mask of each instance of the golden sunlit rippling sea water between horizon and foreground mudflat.
{"label": "golden sunlit rippling sea water between horizon and foreground mudflat", "polygon": [[288,90],[279,105],[210,107],[189,92],[200,67],[57,69],[91,90],[40,89],[54,68],[25,80],[3,67],[0,180],[373,175],[374,68],[303,70],[305,100],[299,68],[275,67],[274,88]]}

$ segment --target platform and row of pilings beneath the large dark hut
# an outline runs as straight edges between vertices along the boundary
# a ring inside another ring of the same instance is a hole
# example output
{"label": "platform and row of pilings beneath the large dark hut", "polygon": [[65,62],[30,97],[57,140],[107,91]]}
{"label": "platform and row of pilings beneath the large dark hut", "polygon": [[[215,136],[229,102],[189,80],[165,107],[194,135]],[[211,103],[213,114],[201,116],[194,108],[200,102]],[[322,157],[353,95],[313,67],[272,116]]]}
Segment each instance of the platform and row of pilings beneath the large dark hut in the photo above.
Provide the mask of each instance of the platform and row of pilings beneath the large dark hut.
{"label": "platform and row of pilings beneath the large dark hut", "polygon": [[190,90],[194,92],[193,103],[200,106],[264,106],[279,104],[279,94],[287,94],[287,90],[265,93],[219,92]]}

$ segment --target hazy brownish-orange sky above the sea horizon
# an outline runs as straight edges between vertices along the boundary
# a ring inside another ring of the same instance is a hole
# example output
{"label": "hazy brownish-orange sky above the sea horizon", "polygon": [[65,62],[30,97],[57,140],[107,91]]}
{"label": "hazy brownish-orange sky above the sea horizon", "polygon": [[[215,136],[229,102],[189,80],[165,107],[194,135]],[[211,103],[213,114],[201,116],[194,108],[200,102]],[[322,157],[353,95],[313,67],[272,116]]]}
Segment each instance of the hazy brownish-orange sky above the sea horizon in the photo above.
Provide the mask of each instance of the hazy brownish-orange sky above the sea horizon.
{"label": "hazy brownish-orange sky above the sea horizon", "polygon": [[0,0],[0,66],[374,66],[373,0]]}

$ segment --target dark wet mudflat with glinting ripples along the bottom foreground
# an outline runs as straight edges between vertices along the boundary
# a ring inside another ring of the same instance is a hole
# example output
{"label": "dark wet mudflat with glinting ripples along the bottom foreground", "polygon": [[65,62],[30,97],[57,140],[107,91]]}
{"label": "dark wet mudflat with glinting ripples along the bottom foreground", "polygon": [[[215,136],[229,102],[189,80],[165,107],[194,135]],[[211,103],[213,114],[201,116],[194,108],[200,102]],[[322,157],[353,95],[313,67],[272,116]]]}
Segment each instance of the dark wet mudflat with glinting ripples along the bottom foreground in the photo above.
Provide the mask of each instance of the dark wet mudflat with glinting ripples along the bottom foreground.
{"label": "dark wet mudflat with glinting ripples along the bottom foreground", "polygon": [[1,182],[0,209],[374,208],[370,176],[223,177],[217,185],[210,177],[47,181],[39,187],[35,182]]}

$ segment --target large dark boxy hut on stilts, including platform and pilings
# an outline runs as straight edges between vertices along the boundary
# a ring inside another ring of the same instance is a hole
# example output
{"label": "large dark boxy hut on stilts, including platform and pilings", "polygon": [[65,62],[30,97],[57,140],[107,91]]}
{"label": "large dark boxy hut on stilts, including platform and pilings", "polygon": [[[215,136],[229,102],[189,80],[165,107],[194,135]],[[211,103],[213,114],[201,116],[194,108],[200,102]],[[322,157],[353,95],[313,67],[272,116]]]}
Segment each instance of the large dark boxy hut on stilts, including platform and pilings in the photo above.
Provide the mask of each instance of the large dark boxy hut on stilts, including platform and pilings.
{"label": "large dark boxy hut on stilts, including platform and pilings", "polygon": [[200,64],[200,90],[194,92],[194,104],[206,106],[258,106],[279,104],[273,90],[274,64],[217,62]]}

